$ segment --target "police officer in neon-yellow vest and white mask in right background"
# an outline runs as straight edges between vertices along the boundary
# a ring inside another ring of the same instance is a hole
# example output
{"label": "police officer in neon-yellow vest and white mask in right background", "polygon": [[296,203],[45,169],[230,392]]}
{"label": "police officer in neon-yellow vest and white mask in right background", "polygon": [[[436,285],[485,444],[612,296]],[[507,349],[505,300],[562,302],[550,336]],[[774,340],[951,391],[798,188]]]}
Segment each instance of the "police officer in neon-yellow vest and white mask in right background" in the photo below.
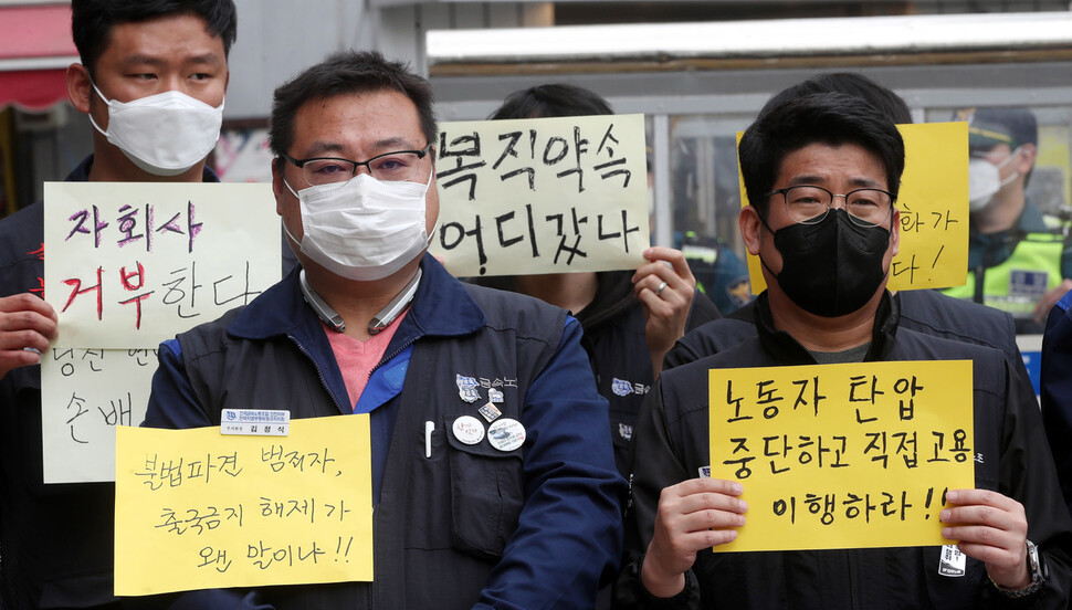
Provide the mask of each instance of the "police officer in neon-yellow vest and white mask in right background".
{"label": "police officer in neon-yellow vest and white mask in right background", "polygon": [[1017,333],[1041,333],[1050,308],[1072,288],[1072,248],[1024,193],[1038,156],[1034,114],[969,108],[956,118],[968,122],[971,156],[968,280],[945,292],[1008,312]]}

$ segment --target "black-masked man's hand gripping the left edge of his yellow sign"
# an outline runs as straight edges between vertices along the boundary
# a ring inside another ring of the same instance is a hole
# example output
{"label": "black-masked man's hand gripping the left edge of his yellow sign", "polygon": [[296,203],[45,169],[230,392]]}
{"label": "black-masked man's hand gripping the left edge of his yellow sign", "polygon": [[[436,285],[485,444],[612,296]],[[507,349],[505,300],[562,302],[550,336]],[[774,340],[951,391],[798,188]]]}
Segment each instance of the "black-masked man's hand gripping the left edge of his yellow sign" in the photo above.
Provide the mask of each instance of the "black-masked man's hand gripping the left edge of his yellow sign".
{"label": "black-masked man's hand gripping the left edge of his yellow sign", "polygon": [[691,478],[662,491],[640,575],[648,592],[677,595],[697,551],[737,538],[735,528],[745,524],[748,511],[736,497],[743,491],[740,483],[721,478]]}

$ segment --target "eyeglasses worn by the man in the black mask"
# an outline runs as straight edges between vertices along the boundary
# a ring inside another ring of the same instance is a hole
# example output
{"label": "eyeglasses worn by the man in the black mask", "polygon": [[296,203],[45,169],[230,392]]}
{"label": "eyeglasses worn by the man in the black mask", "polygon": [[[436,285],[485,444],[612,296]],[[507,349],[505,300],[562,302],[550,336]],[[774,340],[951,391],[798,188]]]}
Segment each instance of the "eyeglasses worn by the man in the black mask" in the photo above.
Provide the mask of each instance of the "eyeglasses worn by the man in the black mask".
{"label": "eyeglasses worn by the man in the black mask", "polygon": [[786,201],[786,213],[799,224],[816,224],[827,218],[834,197],[843,197],[849,220],[859,227],[877,227],[890,218],[893,194],[882,189],[855,189],[835,194],[813,185],[798,185],[775,189],[764,197],[780,194]]}

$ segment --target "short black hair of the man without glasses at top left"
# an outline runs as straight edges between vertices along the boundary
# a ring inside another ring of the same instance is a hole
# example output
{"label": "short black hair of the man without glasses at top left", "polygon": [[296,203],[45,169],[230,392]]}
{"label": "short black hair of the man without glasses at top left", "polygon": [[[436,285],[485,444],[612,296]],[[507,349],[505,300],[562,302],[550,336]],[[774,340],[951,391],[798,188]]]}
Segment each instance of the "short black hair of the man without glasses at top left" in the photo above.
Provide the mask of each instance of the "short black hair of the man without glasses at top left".
{"label": "short black hair of the man without glasses at top left", "polygon": [[115,25],[172,14],[200,17],[209,34],[223,41],[223,55],[231,52],[239,29],[234,0],[72,0],[71,35],[82,65],[93,74]]}

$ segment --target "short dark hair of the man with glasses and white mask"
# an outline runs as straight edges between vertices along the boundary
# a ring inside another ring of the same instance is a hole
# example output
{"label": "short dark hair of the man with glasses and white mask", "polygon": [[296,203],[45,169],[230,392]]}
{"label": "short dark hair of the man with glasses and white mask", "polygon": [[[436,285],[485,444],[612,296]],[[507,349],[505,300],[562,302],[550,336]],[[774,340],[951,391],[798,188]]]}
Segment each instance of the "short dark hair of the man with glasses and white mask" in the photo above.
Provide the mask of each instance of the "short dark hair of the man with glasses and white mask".
{"label": "short dark hair of the man with glasses and white mask", "polygon": [[275,90],[269,122],[272,152],[278,157],[291,148],[294,117],[308,102],[380,91],[397,91],[409,97],[417,106],[427,143],[435,144],[439,127],[432,109],[432,86],[428,81],[410,72],[408,64],[388,61],[378,52],[343,51]]}

